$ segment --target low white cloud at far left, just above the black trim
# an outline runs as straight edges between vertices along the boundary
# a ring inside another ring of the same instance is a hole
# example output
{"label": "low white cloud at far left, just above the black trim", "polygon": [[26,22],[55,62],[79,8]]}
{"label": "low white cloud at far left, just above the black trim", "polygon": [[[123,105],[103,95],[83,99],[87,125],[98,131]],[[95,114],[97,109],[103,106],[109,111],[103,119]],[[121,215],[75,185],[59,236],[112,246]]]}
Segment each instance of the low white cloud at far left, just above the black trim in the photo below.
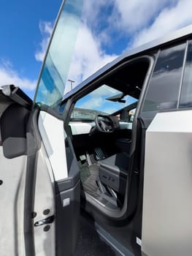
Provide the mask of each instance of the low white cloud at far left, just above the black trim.
{"label": "low white cloud at far left, just above the black trim", "polygon": [[0,83],[1,86],[14,84],[15,86],[19,86],[20,89],[33,91],[37,86],[36,80],[30,80],[28,78],[19,75],[16,72],[9,61],[3,60],[0,64]]}

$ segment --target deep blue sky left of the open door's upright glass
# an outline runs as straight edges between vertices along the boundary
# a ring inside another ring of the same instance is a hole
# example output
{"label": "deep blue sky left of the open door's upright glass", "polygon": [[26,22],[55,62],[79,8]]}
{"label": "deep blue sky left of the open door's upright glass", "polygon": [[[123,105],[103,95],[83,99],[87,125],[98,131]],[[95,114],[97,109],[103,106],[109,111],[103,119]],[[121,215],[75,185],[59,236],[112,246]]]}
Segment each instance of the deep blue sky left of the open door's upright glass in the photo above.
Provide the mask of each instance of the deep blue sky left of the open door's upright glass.
{"label": "deep blue sky left of the open door's upright glass", "polygon": [[[23,80],[37,83],[42,64],[35,59],[42,41],[39,24],[41,21],[54,23],[60,5],[61,0],[1,1],[0,67],[13,78],[12,83]],[[11,79],[6,81],[5,78],[0,72],[0,83],[11,83]],[[34,93],[34,90],[25,90],[29,95]]]}

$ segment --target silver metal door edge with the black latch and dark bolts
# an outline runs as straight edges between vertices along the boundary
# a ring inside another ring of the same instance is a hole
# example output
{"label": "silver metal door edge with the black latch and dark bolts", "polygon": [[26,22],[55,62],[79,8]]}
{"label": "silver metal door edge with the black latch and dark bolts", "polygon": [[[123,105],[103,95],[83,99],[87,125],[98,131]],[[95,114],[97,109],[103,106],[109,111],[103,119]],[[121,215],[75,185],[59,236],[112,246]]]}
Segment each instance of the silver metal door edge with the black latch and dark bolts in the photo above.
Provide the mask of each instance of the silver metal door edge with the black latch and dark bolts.
{"label": "silver metal door edge with the black latch and dark bolts", "polygon": [[[41,221],[47,218],[53,218],[53,221],[41,225]],[[43,144],[38,151],[33,219],[35,255],[55,255],[55,187]]]}

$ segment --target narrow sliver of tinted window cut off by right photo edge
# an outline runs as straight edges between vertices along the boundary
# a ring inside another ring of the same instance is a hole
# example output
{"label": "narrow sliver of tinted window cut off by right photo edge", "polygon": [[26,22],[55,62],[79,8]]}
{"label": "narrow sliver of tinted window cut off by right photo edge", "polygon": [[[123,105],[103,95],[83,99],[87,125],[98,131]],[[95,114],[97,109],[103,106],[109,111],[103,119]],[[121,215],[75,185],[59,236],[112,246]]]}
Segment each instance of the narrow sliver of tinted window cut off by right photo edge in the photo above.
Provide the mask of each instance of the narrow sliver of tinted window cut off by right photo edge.
{"label": "narrow sliver of tinted window cut off by right photo edge", "polygon": [[183,89],[180,98],[180,108],[192,107],[192,42],[188,45],[188,54],[183,76]]}

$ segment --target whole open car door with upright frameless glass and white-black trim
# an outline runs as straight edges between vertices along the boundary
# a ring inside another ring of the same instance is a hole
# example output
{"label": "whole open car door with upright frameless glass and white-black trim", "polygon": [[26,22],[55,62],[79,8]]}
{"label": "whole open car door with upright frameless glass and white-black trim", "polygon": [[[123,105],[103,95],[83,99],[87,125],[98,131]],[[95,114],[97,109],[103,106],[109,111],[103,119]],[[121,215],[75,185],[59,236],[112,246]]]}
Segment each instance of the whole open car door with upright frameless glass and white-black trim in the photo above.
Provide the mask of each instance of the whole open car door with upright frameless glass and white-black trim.
{"label": "whole open car door with upright frameless glass and white-black trim", "polygon": [[82,1],[61,5],[34,102],[0,90],[0,255],[72,255],[80,215],[80,173],[60,103]]}

